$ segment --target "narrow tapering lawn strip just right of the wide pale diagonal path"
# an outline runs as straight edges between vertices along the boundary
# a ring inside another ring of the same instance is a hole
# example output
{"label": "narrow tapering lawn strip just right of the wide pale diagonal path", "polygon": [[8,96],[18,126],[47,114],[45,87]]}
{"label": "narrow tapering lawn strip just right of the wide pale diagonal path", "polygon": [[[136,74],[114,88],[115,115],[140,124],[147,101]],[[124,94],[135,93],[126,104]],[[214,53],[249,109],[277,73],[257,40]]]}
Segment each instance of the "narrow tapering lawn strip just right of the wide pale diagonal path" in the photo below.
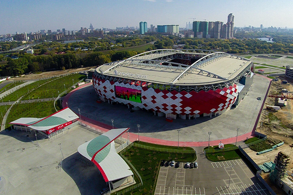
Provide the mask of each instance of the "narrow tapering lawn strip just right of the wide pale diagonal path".
{"label": "narrow tapering lawn strip just right of the wide pale diagonal path", "polygon": [[29,90],[32,90],[34,89],[35,87],[38,87],[39,85],[43,84],[43,83],[46,83],[48,82],[49,80],[52,80],[52,79],[45,79],[45,80],[39,80],[39,81],[36,81],[34,83],[31,83],[25,87],[22,87],[16,91],[14,91],[13,93],[5,96],[3,98],[3,101],[16,101],[18,98],[20,98],[21,96],[23,96],[24,94],[26,94]]}

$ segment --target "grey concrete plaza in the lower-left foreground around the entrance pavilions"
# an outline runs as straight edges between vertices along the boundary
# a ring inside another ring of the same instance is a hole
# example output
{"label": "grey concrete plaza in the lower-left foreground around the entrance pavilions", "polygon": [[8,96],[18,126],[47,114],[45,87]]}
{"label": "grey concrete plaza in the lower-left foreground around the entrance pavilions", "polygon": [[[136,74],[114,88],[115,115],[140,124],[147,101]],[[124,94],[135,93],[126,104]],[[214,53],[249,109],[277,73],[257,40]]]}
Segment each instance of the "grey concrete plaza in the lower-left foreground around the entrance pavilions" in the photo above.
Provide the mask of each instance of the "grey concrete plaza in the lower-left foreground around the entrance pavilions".
{"label": "grey concrete plaza in the lower-left foreground around the entrance pavilions", "polygon": [[75,126],[54,139],[38,140],[37,146],[34,132],[1,131],[0,194],[99,193],[107,186],[103,177],[77,152],[79,145],[98,135]]}

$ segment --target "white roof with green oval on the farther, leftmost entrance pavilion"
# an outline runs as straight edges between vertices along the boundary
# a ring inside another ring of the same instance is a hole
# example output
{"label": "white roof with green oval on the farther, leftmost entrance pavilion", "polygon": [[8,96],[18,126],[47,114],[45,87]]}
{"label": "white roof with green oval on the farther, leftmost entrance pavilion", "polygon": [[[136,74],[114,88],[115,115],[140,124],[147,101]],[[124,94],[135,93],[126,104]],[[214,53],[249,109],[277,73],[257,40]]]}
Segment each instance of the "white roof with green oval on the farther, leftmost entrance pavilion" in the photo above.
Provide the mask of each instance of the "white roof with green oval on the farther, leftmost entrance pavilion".
{"label": "white roof with green oval on the farther, leftmost entrance pavilion", "polygon": [[9,122],[9,124],[23,125],[35,130],[46,131],[78,118],[78,115],[67,107],[45,118],[20,118]]}

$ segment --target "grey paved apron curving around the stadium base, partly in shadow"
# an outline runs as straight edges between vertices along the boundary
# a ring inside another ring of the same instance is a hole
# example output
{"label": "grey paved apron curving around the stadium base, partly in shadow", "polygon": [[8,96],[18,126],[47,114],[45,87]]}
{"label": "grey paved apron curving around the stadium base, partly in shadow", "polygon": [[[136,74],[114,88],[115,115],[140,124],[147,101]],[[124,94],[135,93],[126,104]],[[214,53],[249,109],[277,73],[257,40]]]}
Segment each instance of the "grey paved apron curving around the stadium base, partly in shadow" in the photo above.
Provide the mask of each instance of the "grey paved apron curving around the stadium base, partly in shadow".
{"label": "grey paved apron curving around the stadium base, partly in shadow", "polygon": [[[212,132],[210,140],[236,137],[237,128],[239,128],[238,135],[250,135],[261,110],[269,82],[266,77],[254,75],[254,83],[241,103],[222,115],[212,116],[212,119],[209,116],[193,120],[177,118],[173,122],[167,122],[165,117],[154,116],[153,112],[146,110],[130,112],[126,105],[96,103],[98,97],[92,85],[75,90],[66,101],[74,112],[78,113],[80,108],[81,118],[86,117],[109,126],[113,119],[115,128],[129,127],[130,132],[136,134],[138,133],[137,124],[140,124],[142,137],[177,141],[177,129],[181,129],[179,135],[181,142],[203,142],[208,141],[209,131]],[[258,97],[262,100],[257,100]],[[246,135],[240,137],[242,140],[245,138]]]}

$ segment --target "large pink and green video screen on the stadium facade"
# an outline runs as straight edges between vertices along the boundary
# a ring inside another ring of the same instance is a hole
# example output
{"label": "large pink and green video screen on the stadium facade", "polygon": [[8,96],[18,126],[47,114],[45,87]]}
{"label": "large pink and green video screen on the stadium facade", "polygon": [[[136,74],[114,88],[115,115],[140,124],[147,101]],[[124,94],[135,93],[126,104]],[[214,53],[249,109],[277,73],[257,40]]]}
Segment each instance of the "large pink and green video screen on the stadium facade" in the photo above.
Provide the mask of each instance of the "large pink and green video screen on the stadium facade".
{"label": "large pink and green video screen on the stadium facade", "polygon": [[115,86],[115,96],[116,98],[142,103],[141,90]]}

